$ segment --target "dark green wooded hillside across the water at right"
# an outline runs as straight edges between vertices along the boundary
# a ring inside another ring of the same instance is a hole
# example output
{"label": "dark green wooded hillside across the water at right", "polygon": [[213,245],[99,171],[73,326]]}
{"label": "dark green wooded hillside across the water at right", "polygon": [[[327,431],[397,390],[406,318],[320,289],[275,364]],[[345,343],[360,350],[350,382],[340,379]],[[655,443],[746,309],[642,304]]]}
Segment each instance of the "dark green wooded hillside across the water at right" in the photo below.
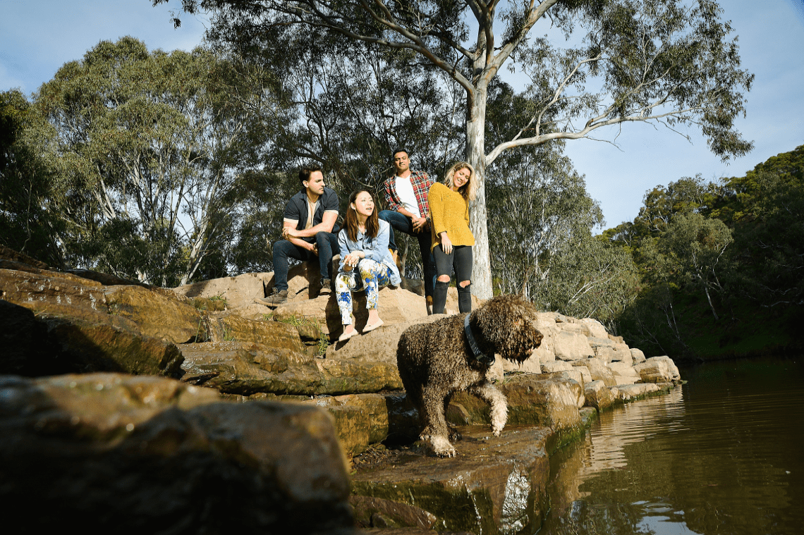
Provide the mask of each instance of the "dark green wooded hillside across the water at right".
{"label": "dark green wooded hillside across the water at right", "polygon": [[745,177],[681,178],[603,233],[638,267],[617,330],[650,353],[729,357],[802,348],[804,145]]}

